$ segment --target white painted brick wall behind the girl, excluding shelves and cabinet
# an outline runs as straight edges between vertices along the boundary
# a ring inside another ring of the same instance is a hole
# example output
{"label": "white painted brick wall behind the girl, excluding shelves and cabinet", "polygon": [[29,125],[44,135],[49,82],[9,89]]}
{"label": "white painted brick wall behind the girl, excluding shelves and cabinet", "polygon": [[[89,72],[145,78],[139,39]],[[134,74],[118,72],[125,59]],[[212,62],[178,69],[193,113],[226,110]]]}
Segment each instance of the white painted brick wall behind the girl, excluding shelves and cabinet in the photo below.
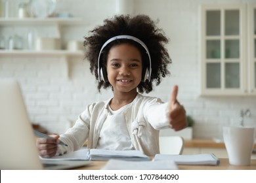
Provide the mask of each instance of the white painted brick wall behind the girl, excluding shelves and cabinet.
{"label": "white painted brick wall behind the girl, excluding shelves and cabinet", "polygon": [[[15,2],[15,1],[14,1]],[[16,1],[18,2],[18,1]],[[87,31],[115,13],[116,0],[58,0],[57,12],[69,12],[82,17],[83,26],[64,27],[64,41],[83,40]],[[170,38],[169,54],[173,59],[171,76],[163,78],[160,86],[148,95],[169,99],[171,88],[179,85],[179,101],[192,115],[195,138],[222,137],[222,127],[239,122],[240,109],[250,108],[251,117],[245,123],[256,126],[256,97],[200,97],[199,5],[200,3],[247,3],[253,0],[136,0],[133,12],[160,20]],[[53,27],[40,29],[51,35]],[[13,31],[13,30],[12,30]],[[19,31],[19,30],[14,30]],[[22,27],[23,34],[28,31]],[[9,31],[8,31],[9,32]],[[66,63],[57,57],[5,57],[0,55],[0,77],[17,78],[22,86],[32,122],[49,131],[62,133],[89,103],[108,99],[111,90],[98,93],[89,63],[80,58],[70,61],[70,78]]]}

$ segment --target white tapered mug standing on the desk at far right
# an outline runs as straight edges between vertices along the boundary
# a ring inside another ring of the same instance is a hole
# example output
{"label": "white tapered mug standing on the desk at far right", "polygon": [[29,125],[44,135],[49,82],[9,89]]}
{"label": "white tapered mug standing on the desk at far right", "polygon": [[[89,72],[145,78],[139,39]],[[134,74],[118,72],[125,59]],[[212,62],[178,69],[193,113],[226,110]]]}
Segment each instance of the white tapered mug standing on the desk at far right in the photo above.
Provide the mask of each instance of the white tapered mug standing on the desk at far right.
{"label": "white tapered mug standing on the desk at far right", "polygon": [[254,127],[223,127],[223,138],[230,165],[250,165]]}

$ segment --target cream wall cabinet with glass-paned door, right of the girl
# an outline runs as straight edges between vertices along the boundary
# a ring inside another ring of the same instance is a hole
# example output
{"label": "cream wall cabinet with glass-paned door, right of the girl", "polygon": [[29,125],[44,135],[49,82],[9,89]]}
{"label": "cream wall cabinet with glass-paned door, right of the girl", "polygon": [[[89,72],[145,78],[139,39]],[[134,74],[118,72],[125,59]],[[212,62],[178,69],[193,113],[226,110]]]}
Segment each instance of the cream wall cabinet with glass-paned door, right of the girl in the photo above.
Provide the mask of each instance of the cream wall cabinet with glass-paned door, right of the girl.
{"label": "cream wall cabinet with glass-paned door, right of the girl", "polygon": [[256,4],[202,5],[202,95],[256,94]]}

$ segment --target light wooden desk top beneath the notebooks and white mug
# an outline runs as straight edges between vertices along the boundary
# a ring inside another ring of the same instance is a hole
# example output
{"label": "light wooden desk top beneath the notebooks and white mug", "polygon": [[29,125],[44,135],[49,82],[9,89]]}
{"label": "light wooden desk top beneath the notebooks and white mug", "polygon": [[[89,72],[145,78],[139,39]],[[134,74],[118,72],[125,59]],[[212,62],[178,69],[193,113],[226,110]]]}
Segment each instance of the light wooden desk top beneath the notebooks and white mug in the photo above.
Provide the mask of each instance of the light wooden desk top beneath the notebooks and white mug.
{"label": "light wooden desk top beneath the notebooks and white mug", "polygon": [[[250,166],[235,166],[228,163],[227,158],[219,158],[221,163],[217,166],[210,165],[179,165],[180,170],[256,170],[256,159],[251,159]],[[91,165],[79,167],[75,170],[100,170],[107,161],[92,161]]]}

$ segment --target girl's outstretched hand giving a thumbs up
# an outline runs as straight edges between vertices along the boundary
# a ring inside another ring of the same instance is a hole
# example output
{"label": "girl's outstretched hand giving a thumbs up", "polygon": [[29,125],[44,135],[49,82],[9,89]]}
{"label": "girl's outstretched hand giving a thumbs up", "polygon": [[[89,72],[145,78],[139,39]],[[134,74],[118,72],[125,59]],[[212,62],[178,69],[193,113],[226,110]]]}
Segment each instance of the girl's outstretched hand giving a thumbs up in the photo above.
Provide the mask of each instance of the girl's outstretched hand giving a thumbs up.
{"label": "girl's outstretched hand giving a thumbs up", "polygon": [[171,99],[168,104],[167,117],[169,120],[169,125],[175,131],[179,131],[187,126],[186,124],[186,110],[179,101],[177,101],[178,86],[173,86],[173,91],[171,92]]}

